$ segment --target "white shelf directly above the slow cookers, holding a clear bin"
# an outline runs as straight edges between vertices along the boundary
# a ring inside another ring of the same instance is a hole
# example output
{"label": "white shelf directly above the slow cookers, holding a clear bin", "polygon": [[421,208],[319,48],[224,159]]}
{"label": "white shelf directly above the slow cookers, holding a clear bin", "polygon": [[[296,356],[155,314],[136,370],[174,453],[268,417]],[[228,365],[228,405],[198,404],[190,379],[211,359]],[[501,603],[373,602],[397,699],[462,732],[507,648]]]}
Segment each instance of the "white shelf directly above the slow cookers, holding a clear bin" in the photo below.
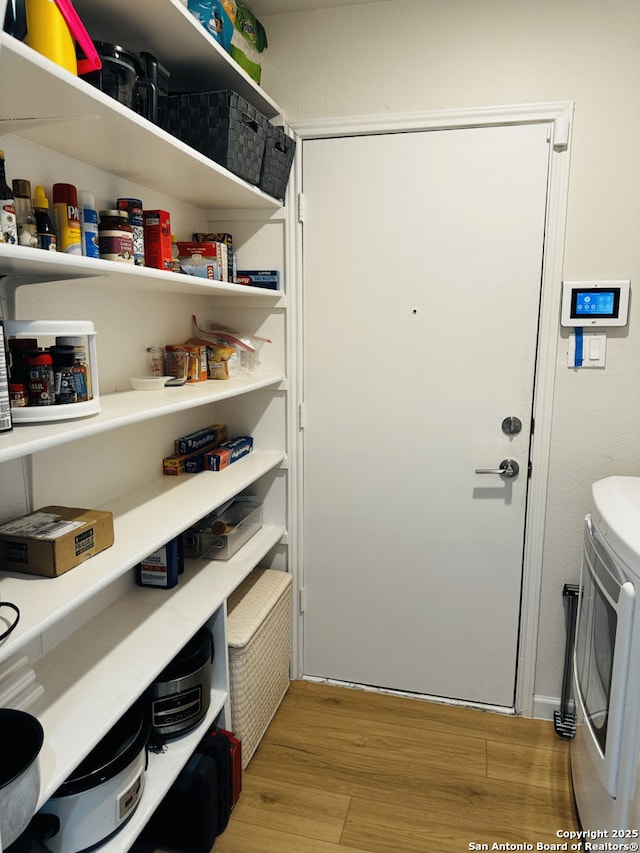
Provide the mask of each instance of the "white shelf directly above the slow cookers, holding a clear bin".
{"label": "white shelf directly above the slow cookers, holding a clear bin", "polygon": [[[261,528],[226,562],[186,561],[184,574],[172,590],[133,585],[126,595],[37,662],[36,678],[45,690],[31,711],[45,732],[39,757],[39,807],[278,544],[282,532],[273,526]],[[114,644],[116,624],[124,630]],[[222,658],[223,650],[216,650],[216,655]],[[215,693],[217,715],[226,694],[220,690]],[[181,753],[172,763],[168,778],[156,781],[158,792],[169,788],[183,757]],[[167,766],[161,765],[161,769]]]}

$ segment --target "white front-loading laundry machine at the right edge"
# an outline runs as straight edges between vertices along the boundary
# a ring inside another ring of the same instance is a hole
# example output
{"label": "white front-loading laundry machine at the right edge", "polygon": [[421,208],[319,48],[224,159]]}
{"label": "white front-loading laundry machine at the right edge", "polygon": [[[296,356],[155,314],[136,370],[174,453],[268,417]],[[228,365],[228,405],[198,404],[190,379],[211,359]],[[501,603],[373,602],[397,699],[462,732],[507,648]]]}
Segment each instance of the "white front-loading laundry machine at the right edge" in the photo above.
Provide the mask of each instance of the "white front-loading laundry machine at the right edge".
{"label": "white front-loading laundry machine at the right edge", "polygon": [[640,477],[608,477],[584,524],[571,776],[582,829],[613,843],[640,830],[639,595]]}

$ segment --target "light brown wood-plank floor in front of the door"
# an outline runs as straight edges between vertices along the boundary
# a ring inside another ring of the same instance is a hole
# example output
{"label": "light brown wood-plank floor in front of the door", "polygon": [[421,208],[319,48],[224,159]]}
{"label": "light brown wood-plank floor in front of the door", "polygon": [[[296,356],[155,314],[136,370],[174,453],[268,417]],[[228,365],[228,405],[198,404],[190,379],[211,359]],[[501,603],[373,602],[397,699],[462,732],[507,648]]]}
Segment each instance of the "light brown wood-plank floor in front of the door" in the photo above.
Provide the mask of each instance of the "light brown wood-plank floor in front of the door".
{"label": "light brown wood-plank floor in front of the door", "polygon": [[552,723],[294,682],[213,853],[536,849],[575,829]]}

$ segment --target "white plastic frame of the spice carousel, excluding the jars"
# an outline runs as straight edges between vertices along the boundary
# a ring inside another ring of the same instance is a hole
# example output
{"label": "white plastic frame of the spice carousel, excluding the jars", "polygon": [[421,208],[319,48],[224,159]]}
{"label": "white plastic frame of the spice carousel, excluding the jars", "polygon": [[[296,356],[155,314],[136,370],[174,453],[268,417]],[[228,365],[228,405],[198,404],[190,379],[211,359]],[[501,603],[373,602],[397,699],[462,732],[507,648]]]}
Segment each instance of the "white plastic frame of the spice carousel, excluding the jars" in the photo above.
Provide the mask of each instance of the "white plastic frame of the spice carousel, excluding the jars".
{"label": "white plastic frame of the spice carousel, excluding the jars", "polygon": [[78,338],[86,353],[88,385],[91,392],[91,398],[82,402],[12,407],[11,418],[14,425],[74,420],[98,414],[101,407],[96,329],[90,320],[6,320],[4,327],[7,339],[36,338],[41,347],[53,345],[58,337]]}

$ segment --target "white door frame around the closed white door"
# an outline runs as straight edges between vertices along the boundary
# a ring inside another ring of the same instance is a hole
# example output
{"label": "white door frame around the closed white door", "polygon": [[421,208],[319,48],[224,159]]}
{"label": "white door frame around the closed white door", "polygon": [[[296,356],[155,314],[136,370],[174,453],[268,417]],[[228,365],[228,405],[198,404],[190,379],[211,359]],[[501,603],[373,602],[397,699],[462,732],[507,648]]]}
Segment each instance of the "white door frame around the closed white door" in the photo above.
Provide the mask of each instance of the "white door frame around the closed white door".
{"label": "white door frame around the closed white door", "polygon": [[[551,424],[555,388],[556,357],[558,348],[558,318],[560,284],[564,254],[567,198],[569,190],[569,162],[571,126],[574,105],[572,101],[500,106],[469,110],[445,110],[427,113],[401,113],[385,116],[356,116],[303,121],[290,121],[290,128],[298,138],[323,139],[332,136],[356,136],[372,133],[401,133],[425,130],[452,130],[471,127],[490,127],[520,124],[547,124],[550,139],[549,185],[547,193],[547,219],[542,266],[542,292],[536,382],[534,388],[535,433],[532,443],[532,477],[529,484],[527,514],[525,519],[524,576],[522,610],[518,645],[516,676],[516,712],[532,716],[534,712],[535,666],[538,644],[538,613],[542,585],[542,557],[546,515]],[[299,146],[300,150],[300,146]],[[302,227],[304,207],[300,196],[302,187],[302,158],[296,156],[290,181],[287,208],[287,270],[289,283],[302,282]],[[290,518],[297,519],[296,535],[290,543],[291,566],[294,572],[294,589],[299,606],[294,625],[293,673],[301,676],[302,619],[304,607],[304,566],[302,564],[302,500],[303,465],[300,422],[303,403],[302,324],[303,302],[301,288],[289,287],[289,336],[293,353],[289,365],[291,377],[290,405],[291,454],[296,459],[297,472],[291,483]]]}

